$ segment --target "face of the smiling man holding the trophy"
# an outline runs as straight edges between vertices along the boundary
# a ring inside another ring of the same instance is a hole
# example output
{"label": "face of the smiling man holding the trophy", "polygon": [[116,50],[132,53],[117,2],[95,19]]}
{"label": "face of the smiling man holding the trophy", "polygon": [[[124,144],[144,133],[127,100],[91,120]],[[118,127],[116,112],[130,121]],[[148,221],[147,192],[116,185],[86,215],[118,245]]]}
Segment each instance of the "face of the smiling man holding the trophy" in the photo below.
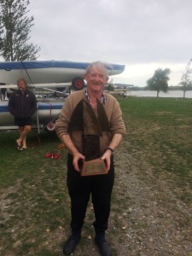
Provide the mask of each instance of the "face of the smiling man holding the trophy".
{"label": "face of the smiling man holding the trophy", "polygon": [[87,82],[88,90],[92,92],[101,92],[105,84],[108,83],[108,75],[102,68],[91,67],[89,73],[84,76]]}

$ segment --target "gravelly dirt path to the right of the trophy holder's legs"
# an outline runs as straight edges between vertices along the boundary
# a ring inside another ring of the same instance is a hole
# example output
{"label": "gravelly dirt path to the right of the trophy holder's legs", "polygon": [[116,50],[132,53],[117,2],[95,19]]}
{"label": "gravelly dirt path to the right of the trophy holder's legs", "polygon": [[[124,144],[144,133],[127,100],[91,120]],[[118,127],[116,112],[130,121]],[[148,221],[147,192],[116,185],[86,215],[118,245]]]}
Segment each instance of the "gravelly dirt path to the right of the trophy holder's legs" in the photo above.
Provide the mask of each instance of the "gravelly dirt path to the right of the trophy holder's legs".
{"label": "gravelly dirt path to the right of the trophy holder's legs", "polygon": [[124,207],[117,216],[121,232],[113,237],[116,254],[191,256],[192,208],[178,199],[173,174],[154,176],[145,154],[125,153],[125,144],[119,148],[116,168],[116,193]]}

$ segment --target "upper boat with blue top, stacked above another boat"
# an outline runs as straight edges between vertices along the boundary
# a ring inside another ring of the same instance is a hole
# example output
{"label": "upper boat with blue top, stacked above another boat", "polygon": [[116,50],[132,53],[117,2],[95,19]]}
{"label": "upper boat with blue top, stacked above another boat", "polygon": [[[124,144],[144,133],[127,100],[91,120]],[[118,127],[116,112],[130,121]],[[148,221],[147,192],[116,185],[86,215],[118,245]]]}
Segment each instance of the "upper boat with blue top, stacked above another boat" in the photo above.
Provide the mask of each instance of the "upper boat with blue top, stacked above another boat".
{"label": "upper boat with blue top, stacked above another boat", "polygon": [[[16,84],[24,78],[28,84],[71,83],[73,89],[84,88],[84,73],[90,62],[76,61],[0,61],[0,84]],[[108,75],[117,75],[125,65],[107,63]],[[0,85],[1,87],[1,85]]]}

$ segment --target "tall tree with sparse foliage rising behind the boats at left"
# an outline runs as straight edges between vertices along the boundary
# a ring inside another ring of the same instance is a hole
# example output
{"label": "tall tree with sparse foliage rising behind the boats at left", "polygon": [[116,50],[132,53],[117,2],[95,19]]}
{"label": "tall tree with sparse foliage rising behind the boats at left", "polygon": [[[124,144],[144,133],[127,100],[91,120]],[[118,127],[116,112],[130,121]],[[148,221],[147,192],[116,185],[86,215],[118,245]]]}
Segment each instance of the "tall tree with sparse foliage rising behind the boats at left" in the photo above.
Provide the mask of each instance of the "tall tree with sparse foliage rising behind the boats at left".
{"label": "tall tree with sparse foliage rising behind the boats at left", "polygon": [[28,17],[29,0],[0,0],[0,55],[5,61],[36,60],[38,45],[29,43],[33,16]]}

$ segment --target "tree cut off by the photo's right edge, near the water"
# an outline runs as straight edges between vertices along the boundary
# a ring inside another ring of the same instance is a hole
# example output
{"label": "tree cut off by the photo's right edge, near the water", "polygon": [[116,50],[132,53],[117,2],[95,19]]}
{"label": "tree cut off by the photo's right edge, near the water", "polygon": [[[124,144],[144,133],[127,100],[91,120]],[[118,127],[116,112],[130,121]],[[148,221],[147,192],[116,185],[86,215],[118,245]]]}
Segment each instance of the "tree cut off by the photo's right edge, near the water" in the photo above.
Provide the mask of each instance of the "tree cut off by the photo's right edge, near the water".
{"label": "tree cut off by the photo's right edge, near the water", "polygon": [[190,67],[191,62],[192,62],[192,59],[189,60],[187,66],[185,67],[185,71],[182,75],[181,82],[179,83],[183,90],[183,98],[185,98],[186,90],[190,90],[192,85],[192,81],[191,81],[192,68]]}

